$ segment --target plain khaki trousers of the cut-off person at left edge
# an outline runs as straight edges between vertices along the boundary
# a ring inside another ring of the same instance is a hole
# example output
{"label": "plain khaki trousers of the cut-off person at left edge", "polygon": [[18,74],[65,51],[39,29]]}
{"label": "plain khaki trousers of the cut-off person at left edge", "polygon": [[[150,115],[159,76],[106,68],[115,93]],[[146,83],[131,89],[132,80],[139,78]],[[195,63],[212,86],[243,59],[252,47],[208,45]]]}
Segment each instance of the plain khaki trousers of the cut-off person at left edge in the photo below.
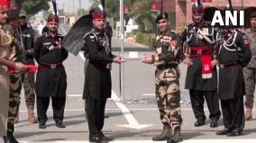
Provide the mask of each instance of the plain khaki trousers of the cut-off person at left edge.
{"label": "plain khaki trousers of the cut-off person at left edge", "polygon": [[0,137],[6,136],[9,110],[10,79],[6,68],[0,66]]}

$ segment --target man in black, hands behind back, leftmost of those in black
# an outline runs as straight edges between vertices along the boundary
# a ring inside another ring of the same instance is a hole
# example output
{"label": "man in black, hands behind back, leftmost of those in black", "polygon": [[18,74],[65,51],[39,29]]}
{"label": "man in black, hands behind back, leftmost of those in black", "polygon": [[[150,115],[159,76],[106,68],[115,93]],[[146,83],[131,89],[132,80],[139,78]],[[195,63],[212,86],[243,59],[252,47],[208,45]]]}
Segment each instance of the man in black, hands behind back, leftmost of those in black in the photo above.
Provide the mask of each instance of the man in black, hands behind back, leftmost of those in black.
{"label": "man in black, hands behind back, leftmost of those in black", "polygon": [[46,128],[47,109],[52,101],[53,119],[56,126],[65,128],[63,124],[66,102],[67,75],[62,62],[68,58],[68,51],[60,45],[61,35],[58,33],[59,17],[50,13],[48,32],[42,33],[35,42],[33,56],[39,64],[36,75],[35,92],[37,95],[37,115],[39,128]]}

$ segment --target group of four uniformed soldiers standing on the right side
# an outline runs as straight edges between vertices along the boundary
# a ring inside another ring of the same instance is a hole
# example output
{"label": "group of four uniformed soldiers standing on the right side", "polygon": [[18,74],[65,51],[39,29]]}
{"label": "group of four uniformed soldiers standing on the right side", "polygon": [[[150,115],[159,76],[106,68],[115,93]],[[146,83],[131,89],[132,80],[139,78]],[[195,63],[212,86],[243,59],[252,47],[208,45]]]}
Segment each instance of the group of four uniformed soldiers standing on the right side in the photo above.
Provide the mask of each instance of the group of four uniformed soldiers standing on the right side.
{"label": "group of four uniformed soldiers standing on the right side", "polygon": [[[185,88],[189,90],[197,119],[195,127],[205,125],[205,100],[211,128],[218,126],[221,101],[224,130],[217,131],[216,135],[239,136],[245,119],[252,119],[256,12],[251,13],[251,29],[245,32],[233,26],[213,27],[204,20],[204,7],[199,2],[192,6],[193,22],[180,36],[169,30],[168,13],[160,13],[156,20],[160,31],[155,42],[156,54],[142,58],[143,63],[156,66],[156,99],[163,130],[152,140],[168,140],[169,143],[182,140],[179,63],[187,65]],[[229,10],[232,11],[232,7]],[[246,115],[243,107],[245,94]]]}

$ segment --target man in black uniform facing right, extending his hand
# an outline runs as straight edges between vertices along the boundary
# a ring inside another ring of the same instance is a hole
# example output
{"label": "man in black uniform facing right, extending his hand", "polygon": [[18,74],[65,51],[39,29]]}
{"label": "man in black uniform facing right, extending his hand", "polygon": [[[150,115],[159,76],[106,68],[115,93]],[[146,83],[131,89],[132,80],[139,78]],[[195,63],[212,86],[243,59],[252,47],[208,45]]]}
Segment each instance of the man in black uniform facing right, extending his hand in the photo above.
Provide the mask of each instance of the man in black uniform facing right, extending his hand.
{"label": "man in black uniform facing right, extending his hand", "polygon": [[109,39],[105,34],[105,10],[96,8],[93,13],[94,28],[85,35],[85,47],[89,59],[86,68],[84,98],[87,102],[89,141],[107,142],[111,139],[102,132],[106,99],[111,96],[111,64],[122,63],[122,57],[111,52]]}

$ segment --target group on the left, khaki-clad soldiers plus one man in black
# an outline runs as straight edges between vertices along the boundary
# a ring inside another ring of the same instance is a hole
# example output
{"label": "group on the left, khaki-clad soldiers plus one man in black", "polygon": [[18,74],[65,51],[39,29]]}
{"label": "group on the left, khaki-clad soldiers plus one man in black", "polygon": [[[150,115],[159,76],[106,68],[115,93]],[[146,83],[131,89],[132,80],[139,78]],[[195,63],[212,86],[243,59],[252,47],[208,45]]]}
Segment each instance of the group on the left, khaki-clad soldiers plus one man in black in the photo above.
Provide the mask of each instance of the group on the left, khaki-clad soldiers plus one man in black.
{"label": "group on the left, khaki-clad soldiers plus one man in black", "polygon": [[[68,58],[68,51],[60,46],[59,17],[50,14],[47,31],[38,33],[28,25],[20,8],[14,1],[0,0],[0,142],[4,139],[5,143],[18,143],[14,138],[14,123],[19,121],[22,88],[29,122],[39,122],[40,129],[46,128],[46,112],[52,97],[56,126],[65,128],[67,76],[62,61]],[[38,118],[34,114],[35,94]]]}

